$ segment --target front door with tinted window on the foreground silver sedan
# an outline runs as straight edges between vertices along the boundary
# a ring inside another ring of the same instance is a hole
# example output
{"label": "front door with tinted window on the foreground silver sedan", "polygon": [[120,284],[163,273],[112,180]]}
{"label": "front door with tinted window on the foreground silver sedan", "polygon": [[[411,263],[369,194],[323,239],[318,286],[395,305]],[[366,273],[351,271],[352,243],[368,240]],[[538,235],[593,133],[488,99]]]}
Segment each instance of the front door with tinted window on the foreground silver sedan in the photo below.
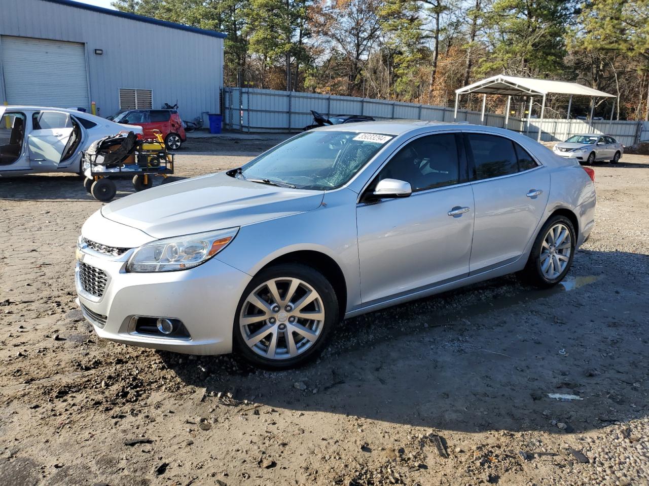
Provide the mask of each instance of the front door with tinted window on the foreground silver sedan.
{"label": "front door with tinted window on the foreground silver sedan", "polygon": [[443,133],[411,141],[365,191],[389,178],[409,182],[413,192],[378,202],[361,199],[356,208],[363,303],[469,273],[474,208],[460,137]]}

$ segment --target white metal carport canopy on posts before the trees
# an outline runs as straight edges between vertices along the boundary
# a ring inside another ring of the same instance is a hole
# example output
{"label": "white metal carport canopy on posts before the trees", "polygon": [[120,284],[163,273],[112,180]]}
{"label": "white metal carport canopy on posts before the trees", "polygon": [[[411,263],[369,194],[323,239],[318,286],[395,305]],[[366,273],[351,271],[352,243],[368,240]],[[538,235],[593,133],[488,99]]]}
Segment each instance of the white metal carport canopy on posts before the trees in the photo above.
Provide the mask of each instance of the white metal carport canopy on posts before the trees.
{"label": "white metal carport canopy on posts before the trees", "polygon": [[[609,95],[609,93],[604,93],[604,91],[599,91],[598,89],[593,89],[592,87],[583,86],[582,84],[577,83],[550,81],[537,78],[519,78],[518,76],[496,75],[455,90],[454,119],[458,118],[459,96],[468,95],[469,93],[482,93],[482,117],[480,118],[480,121],[482,122],[484,122],[485,117],[485,104],[487,103],[487,95],[507,96],[505,126],[507,126],[507,122],[509,121],[509,104],[511,103],[512,96],[526,96],[530,98],[528,125],[530,123],[530,119],[532,118],[532,101],[534,97],[543,98],[543,102],[541,102],[541,120],[543,120],[543,111],[545,110],[545,99],[546,96],[550,93],[570,95],[570,101],[568,102],[567,119],[570,119],[572,97],[575,95],[592,98],[615,98],[615,95]],[[613,109],[615,109],[615,102],[613,102]],[[613,109],[611,109],[611,120],[613,120]],[[593,110],[594,103],[591,104],[591,120],[593,120]],[[539,128],[539,135],[537,137],[537,140],[541,140],[541,128]]]}

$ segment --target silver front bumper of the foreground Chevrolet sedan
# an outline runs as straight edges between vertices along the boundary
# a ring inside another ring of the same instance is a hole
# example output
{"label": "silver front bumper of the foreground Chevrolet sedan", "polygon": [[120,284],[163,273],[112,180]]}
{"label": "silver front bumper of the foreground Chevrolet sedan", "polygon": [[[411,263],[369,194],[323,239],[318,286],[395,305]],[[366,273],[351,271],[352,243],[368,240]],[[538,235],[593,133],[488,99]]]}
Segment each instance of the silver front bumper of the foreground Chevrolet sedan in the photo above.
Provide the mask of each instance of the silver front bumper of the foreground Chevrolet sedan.
{"label": "silver front bumper of the foreground Chevrolet sedan", "polygon": [[[127,273],[133,252],[111,257],[90,248],[77,249],[78,303],[95,332],[119,343],[177,353],[230,353],[236,308],[251,277],[216,258],[180,272]],[[106,273],[101,296],[82,288],[80,262]],[[134,316],[178,319],[190,338],[138,333]]]}

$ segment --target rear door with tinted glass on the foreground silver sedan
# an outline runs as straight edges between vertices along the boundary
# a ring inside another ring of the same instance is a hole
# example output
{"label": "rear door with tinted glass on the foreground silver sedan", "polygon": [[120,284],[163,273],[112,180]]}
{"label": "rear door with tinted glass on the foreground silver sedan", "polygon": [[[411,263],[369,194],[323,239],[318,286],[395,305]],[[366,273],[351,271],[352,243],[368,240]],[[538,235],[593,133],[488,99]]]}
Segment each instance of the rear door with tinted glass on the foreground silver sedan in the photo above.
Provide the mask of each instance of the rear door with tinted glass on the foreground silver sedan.
{"label": "rear door with tinted glass on the foreground silver sedan", "polygon": [[550,191],[548,168],[511,139],[466,133],[475,200],[471,273],[513,262],[536,233]]}

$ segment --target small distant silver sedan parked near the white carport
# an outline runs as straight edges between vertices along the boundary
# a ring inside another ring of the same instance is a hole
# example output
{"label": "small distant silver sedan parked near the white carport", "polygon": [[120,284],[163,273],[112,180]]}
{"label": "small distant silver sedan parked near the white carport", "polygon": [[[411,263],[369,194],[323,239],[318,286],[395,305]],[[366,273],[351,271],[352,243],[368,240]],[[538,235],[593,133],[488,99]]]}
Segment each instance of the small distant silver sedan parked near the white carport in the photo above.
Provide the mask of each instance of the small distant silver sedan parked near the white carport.
{"label": "small distant silver sedan parked near the white carport", "polygon": [[584,133],[572,135],[567,141],[554,146],[554,153],[566,159],[576,159],[583,165],[593,165],[599,161],[617,164],[624,154],[624,145],[609,135]]}

